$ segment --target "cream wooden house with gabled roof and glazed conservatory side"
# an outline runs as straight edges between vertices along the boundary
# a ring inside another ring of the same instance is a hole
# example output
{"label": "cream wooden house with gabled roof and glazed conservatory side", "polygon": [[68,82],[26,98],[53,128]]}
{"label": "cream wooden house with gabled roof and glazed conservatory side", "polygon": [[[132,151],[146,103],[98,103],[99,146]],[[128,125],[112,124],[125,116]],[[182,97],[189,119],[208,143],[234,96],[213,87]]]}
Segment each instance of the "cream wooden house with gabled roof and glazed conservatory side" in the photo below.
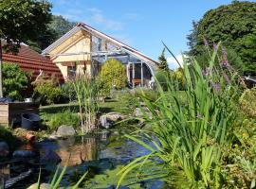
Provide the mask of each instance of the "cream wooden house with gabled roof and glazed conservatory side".
{"label": "cream wooden house with gabled roof and glazed conservatory side", "polygon": [[64,79],[82,74],[95,77],[102,63],[115,58],[125,65],[128,81],[133,87],[148,86],[157,68],[155,60],[82,23],[49,45],[43,55],[60,68]]}

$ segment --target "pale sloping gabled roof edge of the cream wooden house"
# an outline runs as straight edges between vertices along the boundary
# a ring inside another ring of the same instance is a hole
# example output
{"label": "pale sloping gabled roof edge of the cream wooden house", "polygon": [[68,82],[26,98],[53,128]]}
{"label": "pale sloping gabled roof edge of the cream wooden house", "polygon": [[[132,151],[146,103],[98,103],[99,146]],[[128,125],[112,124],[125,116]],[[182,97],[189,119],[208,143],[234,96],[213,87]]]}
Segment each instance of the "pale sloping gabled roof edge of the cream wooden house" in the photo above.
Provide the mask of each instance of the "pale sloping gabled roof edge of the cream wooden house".
{"label": "pale sloping gabled roof edge of the cream wooden house", "polygon": [[70,31],[68,31],[66,34],[64,34],[63,37],[61,37],[59,40],[57,40],[55,43],[52,43],[51,45],[49,45],[44,51],[43,51],[43,55],[47,55],[50,53],[51,50],[53,50],[54,48],[56,48],[57,46],[59,46],[61,43],[64,43],[64,41],[66,41],[68,38],[70,38],[73,34],[75,34],[76,32],[78,32],[79,30],[85,30],[89,33],[91,33],[92,35],[99,37],[101,39],[104,39],[110,43],[114,43],[116,45],[118,45],[123,51],[132,54],[133,56],[137,57],[140,60],[144,60],[146,62],[149,62],[153,67],[155,67],[158,62],[155,60],[152,60],[151,58],[147,57],[146,55],[142,54],[141,52],[139,52],[137,49],[125,44],[125,43],[121,43],[119,40],[116,40],[115,38],[112,38],[104,33],[102,33],[101,31],[91,27],[91,26],[87,26],[83,23],[79,23],[77,26],[75,26],[73,29],[71,29]]}

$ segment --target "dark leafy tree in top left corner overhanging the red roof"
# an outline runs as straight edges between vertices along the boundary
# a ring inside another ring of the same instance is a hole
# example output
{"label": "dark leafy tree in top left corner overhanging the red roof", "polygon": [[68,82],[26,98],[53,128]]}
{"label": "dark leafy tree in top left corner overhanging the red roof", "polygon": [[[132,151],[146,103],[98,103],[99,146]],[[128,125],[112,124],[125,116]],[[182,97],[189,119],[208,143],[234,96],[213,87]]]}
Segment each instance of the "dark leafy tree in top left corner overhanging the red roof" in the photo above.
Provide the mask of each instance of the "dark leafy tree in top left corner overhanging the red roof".
{"label": "dark leafy tree in top left corner overhanging the red roof", "polygon": [[[46,0],[1,0],[0,39],[7,41],[4,50],[17,53],[20,43],[36,40],[50,22],[51,5]],[[0,41],[0,97],[2,84],[2,44]]]}

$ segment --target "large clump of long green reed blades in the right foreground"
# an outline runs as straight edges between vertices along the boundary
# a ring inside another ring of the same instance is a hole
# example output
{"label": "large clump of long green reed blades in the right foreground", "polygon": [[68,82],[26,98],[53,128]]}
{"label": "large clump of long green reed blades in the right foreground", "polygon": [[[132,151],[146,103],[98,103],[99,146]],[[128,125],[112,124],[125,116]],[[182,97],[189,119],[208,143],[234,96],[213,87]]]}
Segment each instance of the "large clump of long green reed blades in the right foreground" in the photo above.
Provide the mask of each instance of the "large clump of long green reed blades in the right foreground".
{"label": "large clump of long green reed blades in the right foreground", "polygon": [[183,183],[186,187],[220,187],[224,146],[229,143],[233,123],[230,100],[235,95],[236,76],[219,57],[219,45],[210,54],[207,68],[203,69],[196,60],[183,59],[185,103],[180,99],[174,77],[168,77],[166,92],[157,84],[159,97],[155,102],[141,96],[153,115],[144,113],[152,130],[126,136],[151,153],[126,165],[119,172],[122,176],[118,186],[131,169],[155,161],[156,157],[166,167],[181,170],[188,180]]}

